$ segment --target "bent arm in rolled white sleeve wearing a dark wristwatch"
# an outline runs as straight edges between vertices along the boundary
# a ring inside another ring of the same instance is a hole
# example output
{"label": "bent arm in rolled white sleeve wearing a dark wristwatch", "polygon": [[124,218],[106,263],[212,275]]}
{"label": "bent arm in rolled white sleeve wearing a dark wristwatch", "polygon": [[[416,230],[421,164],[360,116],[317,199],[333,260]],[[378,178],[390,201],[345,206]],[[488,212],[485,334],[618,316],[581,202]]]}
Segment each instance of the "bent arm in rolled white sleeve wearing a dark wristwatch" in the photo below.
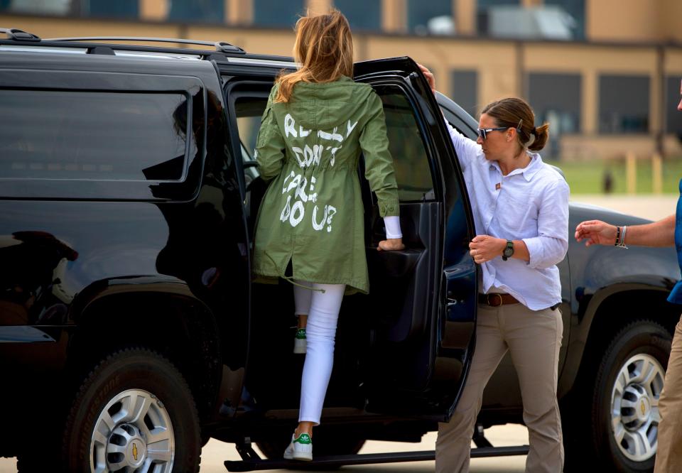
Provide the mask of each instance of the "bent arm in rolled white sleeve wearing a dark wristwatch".
{"label": "bent arm in rolled white sleeve wearing a dark wristwatch", "polygon": [[[531,268],[549,268],[566,256],[568,251],[568,184],[558,180],[543,192],[538,210],[538,236],[512,240],[514,259],[529,263]],[[476,263],[502,256],[507,240],[478,235],[469,244]]]}

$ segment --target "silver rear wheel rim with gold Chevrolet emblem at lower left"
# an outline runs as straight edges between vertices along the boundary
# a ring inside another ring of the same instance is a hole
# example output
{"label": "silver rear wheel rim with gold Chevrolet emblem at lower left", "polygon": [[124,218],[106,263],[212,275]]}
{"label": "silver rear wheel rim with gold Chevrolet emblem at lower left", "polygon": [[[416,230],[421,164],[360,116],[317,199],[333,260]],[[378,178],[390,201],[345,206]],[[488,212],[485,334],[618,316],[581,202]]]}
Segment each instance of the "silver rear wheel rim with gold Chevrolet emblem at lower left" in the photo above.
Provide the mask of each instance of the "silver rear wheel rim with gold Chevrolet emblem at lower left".
{"label": "silver rear wheel rim with gold Chevrolet emblem at lower left", "polygon": [[90,471],[171,473],[174,459],[171,417],[152,393],[123,391],[99,414],[90,439]]}

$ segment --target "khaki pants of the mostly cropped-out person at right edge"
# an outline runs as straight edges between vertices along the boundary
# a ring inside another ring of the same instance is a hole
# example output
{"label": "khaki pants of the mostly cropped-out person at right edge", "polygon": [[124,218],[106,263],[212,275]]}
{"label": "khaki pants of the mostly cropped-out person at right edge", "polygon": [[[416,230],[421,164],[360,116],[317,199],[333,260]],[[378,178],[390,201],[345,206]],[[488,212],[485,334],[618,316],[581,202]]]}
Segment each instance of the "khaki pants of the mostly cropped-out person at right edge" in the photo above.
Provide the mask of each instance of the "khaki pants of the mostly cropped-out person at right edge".
{"label": "khaki pants of the mostly cropped-out person at right edge", "polygon": [[659,446],[654,473],[682,472],[682,318],[675,327],[659,413]]}

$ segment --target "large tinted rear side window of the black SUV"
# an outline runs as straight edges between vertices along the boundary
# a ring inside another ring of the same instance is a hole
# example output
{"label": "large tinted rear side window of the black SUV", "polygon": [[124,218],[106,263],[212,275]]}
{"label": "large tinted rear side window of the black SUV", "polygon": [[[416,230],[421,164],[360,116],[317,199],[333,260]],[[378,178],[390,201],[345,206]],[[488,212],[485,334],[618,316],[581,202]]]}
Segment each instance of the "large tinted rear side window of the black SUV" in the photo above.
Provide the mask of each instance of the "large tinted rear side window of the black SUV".
{"label": "large tinted rear side window of the black SUV", "polygon": [[0,178],[180,180],[186,107],[183,94],[0,90]]}

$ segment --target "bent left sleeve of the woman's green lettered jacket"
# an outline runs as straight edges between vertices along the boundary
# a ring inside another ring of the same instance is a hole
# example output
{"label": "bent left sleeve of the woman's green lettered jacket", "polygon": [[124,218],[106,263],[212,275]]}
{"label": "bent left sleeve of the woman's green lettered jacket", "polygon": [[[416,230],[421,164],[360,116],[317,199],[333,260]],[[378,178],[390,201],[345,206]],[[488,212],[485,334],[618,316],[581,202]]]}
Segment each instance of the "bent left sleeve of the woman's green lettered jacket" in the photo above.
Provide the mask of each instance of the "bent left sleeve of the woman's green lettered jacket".
{"label": "bent left sleeve of the woman's green lettered jacket", "polygon": [[263,112],[261,128],[258,131],[258,138],[256,138],[256,151],[254,152],[260,177],[266,181],[271,180],[281,172],[286,148],[284,137],[272,111],[275,91],[276,88],[273,87],[268,104]]}

